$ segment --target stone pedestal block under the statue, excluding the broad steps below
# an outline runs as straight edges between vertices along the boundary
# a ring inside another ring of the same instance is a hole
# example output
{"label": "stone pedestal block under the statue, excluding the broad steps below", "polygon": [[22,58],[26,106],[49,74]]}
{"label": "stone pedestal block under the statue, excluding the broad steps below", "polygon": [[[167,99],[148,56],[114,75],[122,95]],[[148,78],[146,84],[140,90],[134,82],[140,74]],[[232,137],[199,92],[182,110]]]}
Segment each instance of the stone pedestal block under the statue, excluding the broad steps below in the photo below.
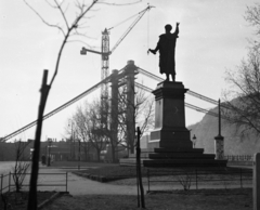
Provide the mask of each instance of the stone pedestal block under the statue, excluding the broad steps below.
{"label": "stone pedestal block under the statue, excluding the broad steps below", "polygon": [[192,148],[190,131],[185,127],[184,97],[187,89],[182,82],[160,82],[155,91],[155,130],[151,132],[148,148]]}

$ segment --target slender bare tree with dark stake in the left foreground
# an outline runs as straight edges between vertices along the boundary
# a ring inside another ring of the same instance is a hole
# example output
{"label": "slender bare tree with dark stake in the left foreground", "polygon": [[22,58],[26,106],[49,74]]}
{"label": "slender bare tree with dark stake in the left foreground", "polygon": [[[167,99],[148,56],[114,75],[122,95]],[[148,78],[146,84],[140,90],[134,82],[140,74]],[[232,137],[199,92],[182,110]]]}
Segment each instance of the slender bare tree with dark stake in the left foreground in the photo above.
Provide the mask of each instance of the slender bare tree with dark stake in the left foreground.
{"label": "slender bare tree with dark stake in the left foreground", "polygon": [[[66,5],[64,5],[65,1],[57,1],[54,0],[54,3],[50,4],[50,6],[54,10],[57,10],[64,21],[65,26],[62,27],[58,24],[51,24],[48,23],[39,12],[37,12],[26,0],[24,2],[35,12],[35,14],[48,26],[57,28],[63,34],[63,42],[57,53],[56,58],[56,65],[55,70],[52,76],[50,84],[47,84],[48,80],[48,71],[44,71],[43,79],[42,79],[42,88],[41,88],[41,100],[40,100],[40,106],[38,111],[38,123],[36,129],[36,140],[35,140],[35,149],[34,149],[34,156],[32,156],[32,170],[31,170],[31,176],[30,176],[30,191],[29,191],[29,199],[28,199],[28,210],[35,210],[37,209],[37,180],[38,180],[38,170],[39,170],[39,150],[40,150],[40,137],[41,137],[41,128],[42,128],[42,116],[47,103],[47,99],[50,92],[50,89],[54,82],[54,79],[58,71],[58,66],[62,57],[62,53],[64,50],[65,44],[68,42],[68,39],[70,36],[79,36],[81,35],[78,32],[78,29],[83,27],[81,24],[81,21],[86,18],[86,14],[91,11],[91,9],[94,6],[95,3],[98,3],[98,0],[92,1],[90,5],[87,5],[84,2],[76,1],[75,6],[78,10],[78,13],[76,14],[75,19],[72,22],[72,24],[68,23],[68,19],[65,15]],[[47,1],[48,2],[48,1]]]}

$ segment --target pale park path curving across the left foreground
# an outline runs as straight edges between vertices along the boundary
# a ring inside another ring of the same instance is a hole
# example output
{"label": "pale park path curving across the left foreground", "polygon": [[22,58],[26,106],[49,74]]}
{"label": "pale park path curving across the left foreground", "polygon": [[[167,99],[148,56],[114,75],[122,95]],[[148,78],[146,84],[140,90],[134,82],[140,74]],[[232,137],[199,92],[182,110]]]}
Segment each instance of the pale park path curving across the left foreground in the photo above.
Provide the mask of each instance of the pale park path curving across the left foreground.
{"label": "pale park path curving across the left foreground", "polygon": [[[13,165],[8,162],[6,165],[1,165],[0,174],[8,174]],[[87,168],[84,168],[87,169]],[[77,170],[77,169],[75,169]],[[66,171],[72,171],[72,169],[55,169],[55,168],[47,168],[40,166],[39,175],[38,175],[38,185],[63,185],[63,186],[38,186],[38,191],[61,191],[65,192],[65,180]],[[61,174],[63,173],[63,174]],[[25,176],[24,180],[24,188],[28,188],[29,185],[29,171],[28,175]],[[68,172],[68,185],[67,191],[72,195],[93,195],[93,194],[114,194],[114,195],[135,195],[136,186],[125,186],[125,185],[113,185],[107,183],[100,183],[96,181],[92,181],[86,178],[78,176],[72,172]],[[13,179],[11,178],[11,185],[13,185]],[[1,183],[0,183],[1,185]],[[9,185],[9,176],[5,176],[2,182],[2,187]],[[27,185],[27,186],[26,186]],[[14,187],[14,186],[13,186]],[[11,187],[11,188],[13,188]],[[5,188],[6,192],[9,188]]]}

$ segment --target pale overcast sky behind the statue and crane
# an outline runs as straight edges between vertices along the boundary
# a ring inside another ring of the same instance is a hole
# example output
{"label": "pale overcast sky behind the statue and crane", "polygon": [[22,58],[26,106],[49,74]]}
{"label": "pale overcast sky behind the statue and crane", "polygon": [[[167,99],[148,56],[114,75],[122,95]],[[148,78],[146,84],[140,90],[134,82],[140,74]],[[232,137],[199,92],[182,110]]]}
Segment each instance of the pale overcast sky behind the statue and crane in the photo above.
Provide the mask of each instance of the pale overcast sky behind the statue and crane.
{"label": "pale overcast sky behind the statue and crane", "polygon": [[[43,0],[27,0],[46,21],[64,26],[61,14],[51,9]],[[49,0],[51,2],[51,0]],[[109,2],[131,2],[131,0],[107,0]],[[69,23],[75,17],[73,0],[66,15]],[[91,0],[86,2],[90,3]],[[110,56],[109,68],[121,69],[127,61],[157,76],[159,74],[158,55],[150,54],[148,48],[155,48],[164,26],[180,22],[180,35],[177,41],[176,62],[177,81],[185,88],[218,100],[225,89],[224,71],[234,69],[247,54],[247,38],[253,36],[253,28],[245,22],[247,5],[253,0],[143,0],[128,6],[98,4],[87,19],[86,32],[90,37],[81,38],[95,50],[101,47],[101,31],[113,27],[123,19],[144,10],[147,3],[154,5],[131,30]],[[66,4],[66,3],[65,3]],[[40,100],[40,86],[43,69],[49,69],[51,78],[56,55],[63,40],[62,34],[44,25],[23,0],[0,1],[0,136],[4,136],[21,127],[36,120]],[[133,18],[134,19],[134,18]],[[133,19],[110,30],[110,48],[128,29]],[[50,92],[46,114],[64,104],[101,80],[101,57],[88,53],[80,55],[83,43],[72,42],[65,47],[60,73]],[[143,83],[155,89],[156,81],[138,76]],[[93,94],[99,96],[100,91]],[[91,101],[92,97],[88,97]],[[64,128],[79,103],[47,119],[43,123],[42,140],[66,137]],[[186,102],[203,108],[213,105],[186,95]],[[186,108],[186,124],[195,123],[203,114]],[[35,137],[35,127],[16,136]]]}

